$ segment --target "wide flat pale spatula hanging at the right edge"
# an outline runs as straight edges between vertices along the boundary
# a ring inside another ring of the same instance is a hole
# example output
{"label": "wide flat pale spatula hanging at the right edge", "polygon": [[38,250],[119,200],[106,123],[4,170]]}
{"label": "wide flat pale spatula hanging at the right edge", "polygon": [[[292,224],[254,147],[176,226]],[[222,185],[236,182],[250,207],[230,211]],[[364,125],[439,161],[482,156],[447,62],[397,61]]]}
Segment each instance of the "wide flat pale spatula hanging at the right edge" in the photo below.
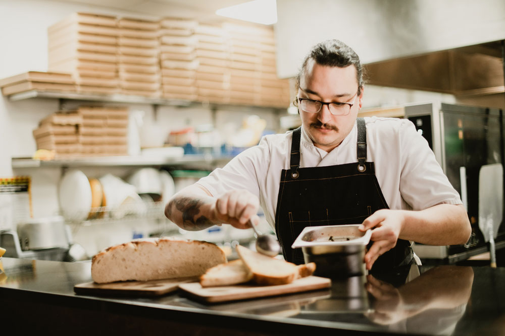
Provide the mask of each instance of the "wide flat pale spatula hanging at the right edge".
{"label": "wide flat pale spatula hanging at the right edge", "polygon": [[503,215],[503,167],[501,163],[483,165],[479,170],[479,229],[489,242],[490,262],[496,267],[494,237]]}

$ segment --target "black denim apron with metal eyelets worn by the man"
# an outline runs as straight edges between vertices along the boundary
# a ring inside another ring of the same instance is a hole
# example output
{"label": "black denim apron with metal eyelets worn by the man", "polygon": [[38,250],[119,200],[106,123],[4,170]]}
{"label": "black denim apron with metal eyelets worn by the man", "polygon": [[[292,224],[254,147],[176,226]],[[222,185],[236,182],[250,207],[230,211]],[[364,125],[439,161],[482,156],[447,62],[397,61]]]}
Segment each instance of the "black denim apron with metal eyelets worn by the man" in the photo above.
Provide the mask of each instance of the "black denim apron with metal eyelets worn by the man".
{"label": "black denim apron with metal eyelets worn by the man", "polygon": [[[357,124],[358,162],[327,167],[299,168],[301,127],[293,131],[291,169],[281,173],[275,219],[286,260],[305,262],[301,248],[292,249],[291,245],[307,226],[361,224],[377,210],[389,209],[374,163],[366,162],[365,120],[358,118]],[[394,248],[377,258],[372,271],[390,270],[413,261],[410,242],[398,239]]]}

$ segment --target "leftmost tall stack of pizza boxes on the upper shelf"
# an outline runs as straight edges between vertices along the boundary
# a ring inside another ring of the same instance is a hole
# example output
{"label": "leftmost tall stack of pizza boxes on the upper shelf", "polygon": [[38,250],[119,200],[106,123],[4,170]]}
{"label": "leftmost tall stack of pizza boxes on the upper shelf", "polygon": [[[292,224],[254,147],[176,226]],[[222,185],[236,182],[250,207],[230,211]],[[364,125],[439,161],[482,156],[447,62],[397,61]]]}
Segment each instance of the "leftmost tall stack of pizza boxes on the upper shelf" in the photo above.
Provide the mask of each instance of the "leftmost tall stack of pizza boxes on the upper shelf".
{"label": "leftmost tall stack of pizza boxes on the upper shelf", "polygon": [[116,17],[74,13],[48,28],[49,71],[74,75],[81,93],[119,91]]}

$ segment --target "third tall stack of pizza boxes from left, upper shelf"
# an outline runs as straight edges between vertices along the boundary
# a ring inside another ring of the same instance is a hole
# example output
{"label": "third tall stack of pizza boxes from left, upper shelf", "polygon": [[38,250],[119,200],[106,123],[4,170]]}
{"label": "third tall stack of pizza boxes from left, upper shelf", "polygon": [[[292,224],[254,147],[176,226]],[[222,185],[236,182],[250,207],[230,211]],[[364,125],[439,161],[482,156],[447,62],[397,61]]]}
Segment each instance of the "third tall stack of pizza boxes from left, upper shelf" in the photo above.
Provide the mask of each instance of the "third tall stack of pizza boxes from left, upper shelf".
{"label": "third tall stack of pizza boxes from left, upper shelf", "polygon": [[195,100],[194,29],[197,22],[184,18],[164,18],[160,21],[160,63],[163,97]]}

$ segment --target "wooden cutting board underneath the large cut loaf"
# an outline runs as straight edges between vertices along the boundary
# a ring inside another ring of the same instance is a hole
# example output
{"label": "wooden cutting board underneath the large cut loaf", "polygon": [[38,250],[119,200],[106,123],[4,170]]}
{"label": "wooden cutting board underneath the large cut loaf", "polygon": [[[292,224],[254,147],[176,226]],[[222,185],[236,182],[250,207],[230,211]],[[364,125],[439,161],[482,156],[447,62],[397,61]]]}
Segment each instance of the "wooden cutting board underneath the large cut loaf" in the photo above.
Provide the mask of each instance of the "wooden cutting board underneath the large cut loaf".
{"label": "wooden cutting board underneath the large cut loaf", "polygon": [[195,277],[151,281],[121,281],[107,284],[87,282],[74,286],[74,292],[84,295],[159,296],[173,292],[179,285],[197,280]]}

